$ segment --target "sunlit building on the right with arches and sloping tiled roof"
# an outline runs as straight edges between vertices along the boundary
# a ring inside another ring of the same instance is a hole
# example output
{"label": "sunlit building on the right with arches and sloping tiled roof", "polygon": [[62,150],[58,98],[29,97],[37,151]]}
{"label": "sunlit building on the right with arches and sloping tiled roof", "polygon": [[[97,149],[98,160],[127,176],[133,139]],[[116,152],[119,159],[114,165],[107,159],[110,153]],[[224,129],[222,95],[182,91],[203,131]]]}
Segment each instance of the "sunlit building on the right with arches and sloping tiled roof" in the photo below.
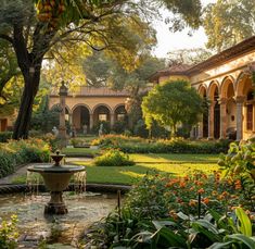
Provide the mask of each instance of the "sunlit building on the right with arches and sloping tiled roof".
{"label": "sunlit building on the right with arches and sloping tiled roof", "polygon": [[194,128],[196,138],[237,140],[255,135],[255,36],[194,66],[176,65],[152,75],[161,84],[188,79],[208,101],[207,113]]}

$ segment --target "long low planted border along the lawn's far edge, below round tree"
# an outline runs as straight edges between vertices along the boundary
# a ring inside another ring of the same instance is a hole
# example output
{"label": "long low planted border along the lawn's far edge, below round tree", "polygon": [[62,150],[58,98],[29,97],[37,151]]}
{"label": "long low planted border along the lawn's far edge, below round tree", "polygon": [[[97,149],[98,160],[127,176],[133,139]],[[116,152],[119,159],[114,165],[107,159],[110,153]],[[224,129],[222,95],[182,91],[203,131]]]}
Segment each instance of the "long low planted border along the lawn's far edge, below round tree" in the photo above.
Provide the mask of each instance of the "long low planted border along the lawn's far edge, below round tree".
{"label": "long low planted border along the lawn's far edge, below round tree", "polygon": [[220,153],[227,152],[229,140],[190,141],[183,138],[144,139],[123,135],[106,135],[94,139],[94,146],[115,148],[127,153]]}

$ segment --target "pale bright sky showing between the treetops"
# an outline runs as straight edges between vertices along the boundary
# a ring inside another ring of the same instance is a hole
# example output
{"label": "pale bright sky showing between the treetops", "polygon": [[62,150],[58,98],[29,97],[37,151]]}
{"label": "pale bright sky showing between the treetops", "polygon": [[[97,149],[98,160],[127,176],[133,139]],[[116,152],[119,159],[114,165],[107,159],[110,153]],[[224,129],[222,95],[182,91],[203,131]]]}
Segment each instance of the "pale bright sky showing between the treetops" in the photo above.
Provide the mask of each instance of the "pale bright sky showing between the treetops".
{"label": "pale bright sky showing between the treetops", "polygon": [[[216,2],[216,0],[201,0],[203,5],[207,3]],[[169,30],[169,25],[164,23],[164,18],[169,16],[170,13],[166,10],[162,11],[163,21],[156,21],[154,28],[156,29],[157,46],[153,50],[153,53],[158,58],[167,58],[167,52],[176,49],[189,49],[189,48],[204,48],[207,41],[204,29],[193,32],[192,36],[188,35],[189,29],[182,32],[173,33]]]}

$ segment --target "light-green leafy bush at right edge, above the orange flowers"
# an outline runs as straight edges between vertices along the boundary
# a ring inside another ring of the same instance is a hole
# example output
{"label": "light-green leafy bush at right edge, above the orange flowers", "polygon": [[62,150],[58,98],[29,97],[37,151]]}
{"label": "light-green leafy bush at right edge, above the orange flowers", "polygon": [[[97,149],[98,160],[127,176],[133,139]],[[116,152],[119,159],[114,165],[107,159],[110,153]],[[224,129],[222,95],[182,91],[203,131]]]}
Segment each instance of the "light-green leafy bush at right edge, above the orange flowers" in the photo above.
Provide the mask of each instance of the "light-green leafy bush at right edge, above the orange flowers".
{"label": "light-green leafy bush at right edge, above the orange flowers", "polygon": [[242,141],[230,144],[227,154],[221,154],[218,161],[225,177],[235,182],[235,187],[243,197],[243,206],[252,206],[255,210],[255,144]]}

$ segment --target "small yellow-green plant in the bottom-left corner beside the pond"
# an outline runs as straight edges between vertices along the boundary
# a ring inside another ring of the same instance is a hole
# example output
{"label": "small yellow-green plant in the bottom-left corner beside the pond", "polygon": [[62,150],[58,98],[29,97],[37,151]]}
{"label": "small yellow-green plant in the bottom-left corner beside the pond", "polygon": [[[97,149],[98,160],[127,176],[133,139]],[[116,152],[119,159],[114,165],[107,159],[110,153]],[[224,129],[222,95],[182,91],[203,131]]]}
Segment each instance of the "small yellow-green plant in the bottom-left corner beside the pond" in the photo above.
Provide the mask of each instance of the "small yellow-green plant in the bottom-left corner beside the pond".
{"label": "small yellow-green plant in the bottom-left corner beside the pond", "polygon": [[0,224],[0,248],[14,249],[17,246],[18,233],[16,228],[17,216],[12,215],[11,221],[2,221]]}

